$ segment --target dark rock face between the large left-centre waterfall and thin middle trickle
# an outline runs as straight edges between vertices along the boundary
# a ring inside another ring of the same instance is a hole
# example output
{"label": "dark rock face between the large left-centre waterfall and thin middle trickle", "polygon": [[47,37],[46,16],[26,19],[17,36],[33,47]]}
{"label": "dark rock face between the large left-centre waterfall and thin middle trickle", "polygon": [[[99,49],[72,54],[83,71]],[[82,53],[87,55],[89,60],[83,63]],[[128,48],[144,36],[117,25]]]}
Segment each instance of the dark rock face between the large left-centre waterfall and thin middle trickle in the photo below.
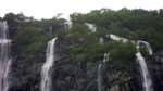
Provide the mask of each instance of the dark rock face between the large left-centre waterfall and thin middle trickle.
{"label": "dark rock face between the large left-centre waterfall and thin middle trickle", "polygon": [[53,91],[98,91],[98,66],[93,60],[73,61],[68,46],[68,39],[57,40]]}

